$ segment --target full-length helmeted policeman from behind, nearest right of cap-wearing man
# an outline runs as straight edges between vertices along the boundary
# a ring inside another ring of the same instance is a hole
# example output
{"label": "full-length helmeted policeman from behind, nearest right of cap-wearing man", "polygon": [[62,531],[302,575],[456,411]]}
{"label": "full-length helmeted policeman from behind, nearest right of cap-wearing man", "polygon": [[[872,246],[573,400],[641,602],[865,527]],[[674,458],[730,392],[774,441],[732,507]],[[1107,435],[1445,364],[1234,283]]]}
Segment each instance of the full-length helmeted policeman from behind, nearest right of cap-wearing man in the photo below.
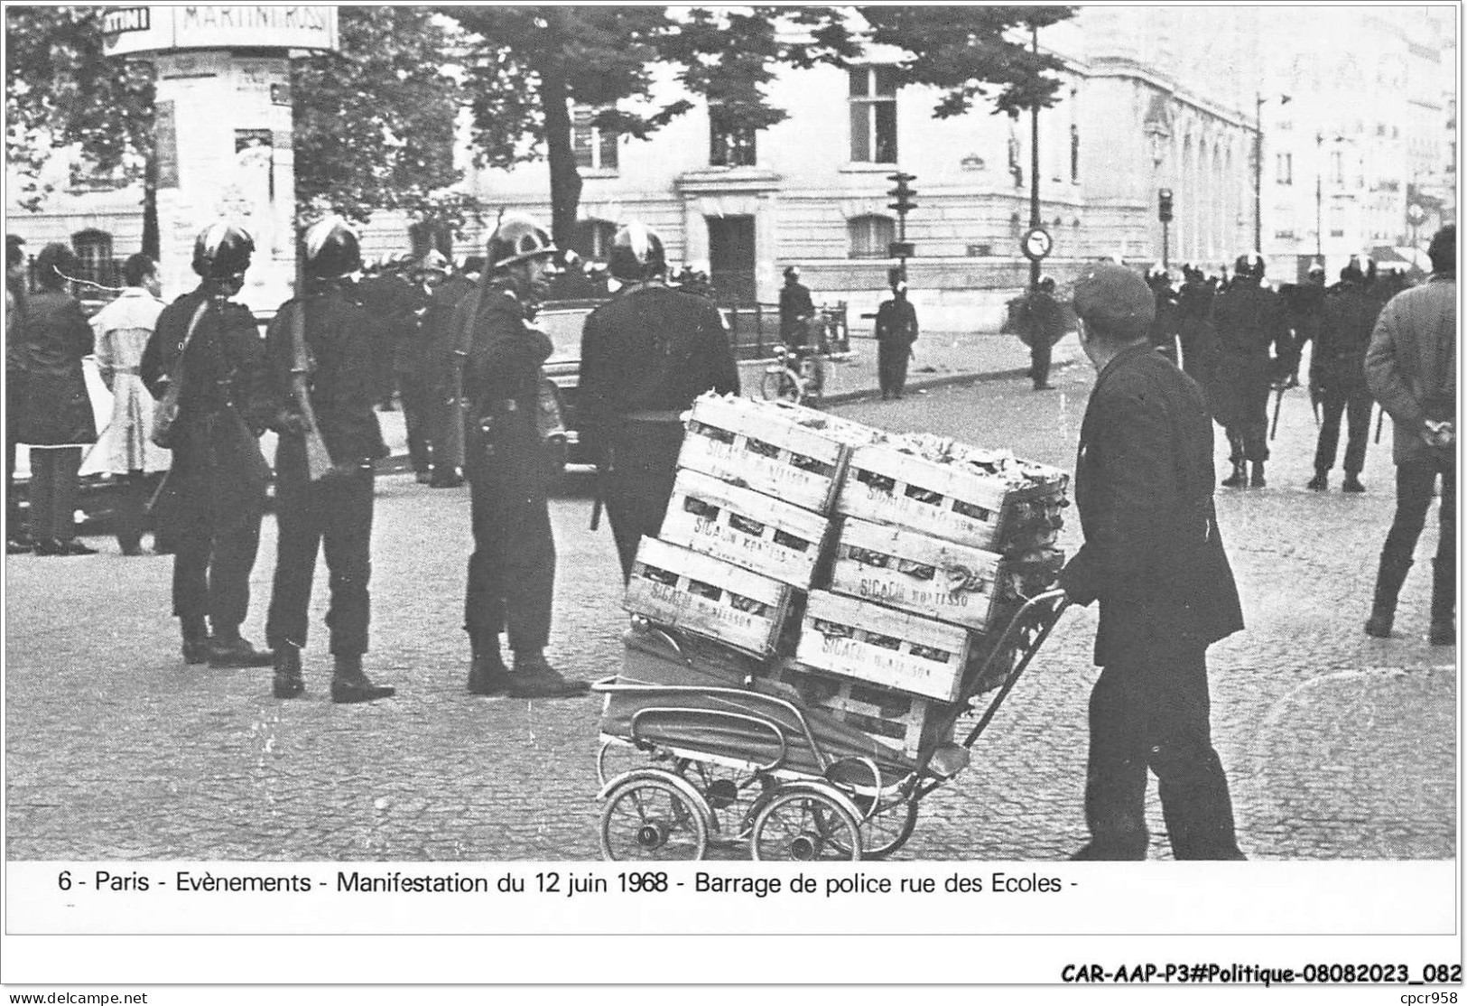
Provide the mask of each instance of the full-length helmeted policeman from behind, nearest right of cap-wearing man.
{"label": "full-length helmeted policeman from behind, nearest right of cap-wearing man", "polygon": [[[1213,298],[1218,330],[1218,402],[1213,418],[1228,434],[1228,488],[1263,488],[1269,459],[1269,389],[1288,371],[1288,318],[1278,293],[1263,286],[1263,258],[1240,255],[1232,280]],[[1251,465],[1251,478],[1248,466]]]}

